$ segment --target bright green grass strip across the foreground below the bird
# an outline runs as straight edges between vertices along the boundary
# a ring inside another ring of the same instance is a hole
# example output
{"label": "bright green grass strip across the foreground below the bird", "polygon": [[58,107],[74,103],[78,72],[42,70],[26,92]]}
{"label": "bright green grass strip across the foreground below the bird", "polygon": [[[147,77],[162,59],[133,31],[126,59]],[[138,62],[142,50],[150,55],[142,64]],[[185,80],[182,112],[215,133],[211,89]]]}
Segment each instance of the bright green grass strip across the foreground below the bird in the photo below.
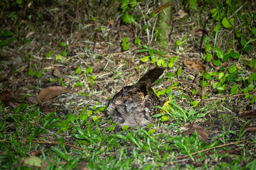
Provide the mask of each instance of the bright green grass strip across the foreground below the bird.
{"label": "bright green grass strip across the foreground below the bird", "polygon": [[[165,130],[161,125],[113,132],[109,128],[101,129],[100,121],[91,118],[85,121],[70,118],[70,115],[61,118],[55,112],[41,115],[38,106],[21,104],[11,113],[6,113],[3,103],[0,108],[5,115],[0,125],[0,148],[5,153],[1,154],[1,169],[13,169],[18,159],[27,157],[31,152],[41,152],[42,162],[54,160],[46,169],[75,169],[82,162],[90,169],[195,169],[195,166],[178,161],[184,155],[197,162],[202,169],[209,166],[204,161],[213,158],[230,160],[214,165],[215,169],[255,168],[254,152],[245,152],[248,147],[243,145],[245,142],[231,145],[236,148],[234,151],[225,145],[216,148],[221,143],[227,144],[228,134],[234,133],[230,128],[227,132],[224,125],[222,134],[212,142],[204,143],[199,140],[197,132],[183,137],[178,127]],[[152,129],[156,131],[151,132]],[[164,132],[157,132],[161,130]],[[176,135],[173,135],[174,132]],[[239,142],[239,139],[234,141]],[[209,150],[201,152],[204,149]],[[240,157],[230,157],[229,152],[225,153],[227,150],[237,152],[238,149],[242,151]],[[240,161],[250,164],[244,167]],[[27,168],[20,165],[18,169]]]}

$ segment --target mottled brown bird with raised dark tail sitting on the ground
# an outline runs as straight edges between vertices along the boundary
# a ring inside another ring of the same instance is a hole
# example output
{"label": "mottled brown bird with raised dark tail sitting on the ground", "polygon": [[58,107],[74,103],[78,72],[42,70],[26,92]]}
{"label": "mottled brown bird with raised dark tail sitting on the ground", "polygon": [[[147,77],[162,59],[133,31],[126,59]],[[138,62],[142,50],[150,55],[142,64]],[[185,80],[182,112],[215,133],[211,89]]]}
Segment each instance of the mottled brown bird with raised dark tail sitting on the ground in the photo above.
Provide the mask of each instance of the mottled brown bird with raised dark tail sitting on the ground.
{"label": "mottled brown bird with raised dark tail sitting on the ground", "polygon": [[164,68],[155,67],[149,70],[144,77],[132,86],[124,86],[110,100],[107,106],[107,115],[110,115],[114,123],[121,127],[144,126],[151,121],[151,115],[157,113],[160,106],[159,98],[154,94],[150,85],[163,74]]}

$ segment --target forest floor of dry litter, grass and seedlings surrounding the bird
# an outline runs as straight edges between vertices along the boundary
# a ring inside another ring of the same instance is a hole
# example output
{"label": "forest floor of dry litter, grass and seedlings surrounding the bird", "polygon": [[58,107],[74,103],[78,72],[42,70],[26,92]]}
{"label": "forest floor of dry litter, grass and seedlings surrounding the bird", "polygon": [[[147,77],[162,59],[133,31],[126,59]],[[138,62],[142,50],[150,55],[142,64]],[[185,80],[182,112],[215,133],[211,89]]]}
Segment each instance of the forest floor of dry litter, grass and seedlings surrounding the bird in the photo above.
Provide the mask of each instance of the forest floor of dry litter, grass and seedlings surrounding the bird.
{"label": "forest floor of dry litter, grass and seedlings surrounding the bird", "polygon": [[[255,2],[223,2],[215,36],[214,4],[174,1],[165,45],[166,8],[137,19],[159,3],[22,3],[0,3],[1,169],[256,169]],[[117,128],[107,101],[154,67],[173,110]]]}

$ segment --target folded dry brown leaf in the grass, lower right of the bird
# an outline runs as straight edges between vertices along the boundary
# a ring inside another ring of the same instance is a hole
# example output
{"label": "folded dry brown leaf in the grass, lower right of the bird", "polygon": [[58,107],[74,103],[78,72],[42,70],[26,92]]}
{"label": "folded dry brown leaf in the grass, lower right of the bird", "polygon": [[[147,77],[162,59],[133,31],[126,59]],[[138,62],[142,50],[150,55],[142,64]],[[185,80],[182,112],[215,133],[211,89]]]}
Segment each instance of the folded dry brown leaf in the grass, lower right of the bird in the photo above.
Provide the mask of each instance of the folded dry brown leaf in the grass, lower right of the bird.
{"label": "folded dry brown leaf in the grass, lower right of the bird", "polygon": [[205,129],[201,128],[201,126],[195,125],[195,124],[191,124],[188,126],[188,130],[185,132],[182,132],[182,136],[186,136],[186,135],[192,135],[195,131],[198,132],[198,137],[200,140],[202,140],[203,142],[208,142],[208,133],[206,132]]}

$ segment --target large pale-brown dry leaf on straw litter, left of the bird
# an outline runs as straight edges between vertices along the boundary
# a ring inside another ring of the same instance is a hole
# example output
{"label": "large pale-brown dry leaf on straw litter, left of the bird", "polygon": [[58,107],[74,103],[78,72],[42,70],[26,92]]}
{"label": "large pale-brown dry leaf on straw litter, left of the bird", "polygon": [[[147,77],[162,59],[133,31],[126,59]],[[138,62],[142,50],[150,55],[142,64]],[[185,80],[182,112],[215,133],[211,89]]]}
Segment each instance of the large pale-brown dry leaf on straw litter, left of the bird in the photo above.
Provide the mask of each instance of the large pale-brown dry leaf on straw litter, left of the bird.
{"label": "large pale-brown dry leaf on straw litter, left of the bird", "polygon": [[40,93],[38,96],[36,96],[38,102],[42,101],[47,101],[49,98],[54,98],[55,96],[58,96],[60,94],[65,94],[70,91],[70,86],[67,88],[63,86],[50,86],[46,89],[41,89]]}

